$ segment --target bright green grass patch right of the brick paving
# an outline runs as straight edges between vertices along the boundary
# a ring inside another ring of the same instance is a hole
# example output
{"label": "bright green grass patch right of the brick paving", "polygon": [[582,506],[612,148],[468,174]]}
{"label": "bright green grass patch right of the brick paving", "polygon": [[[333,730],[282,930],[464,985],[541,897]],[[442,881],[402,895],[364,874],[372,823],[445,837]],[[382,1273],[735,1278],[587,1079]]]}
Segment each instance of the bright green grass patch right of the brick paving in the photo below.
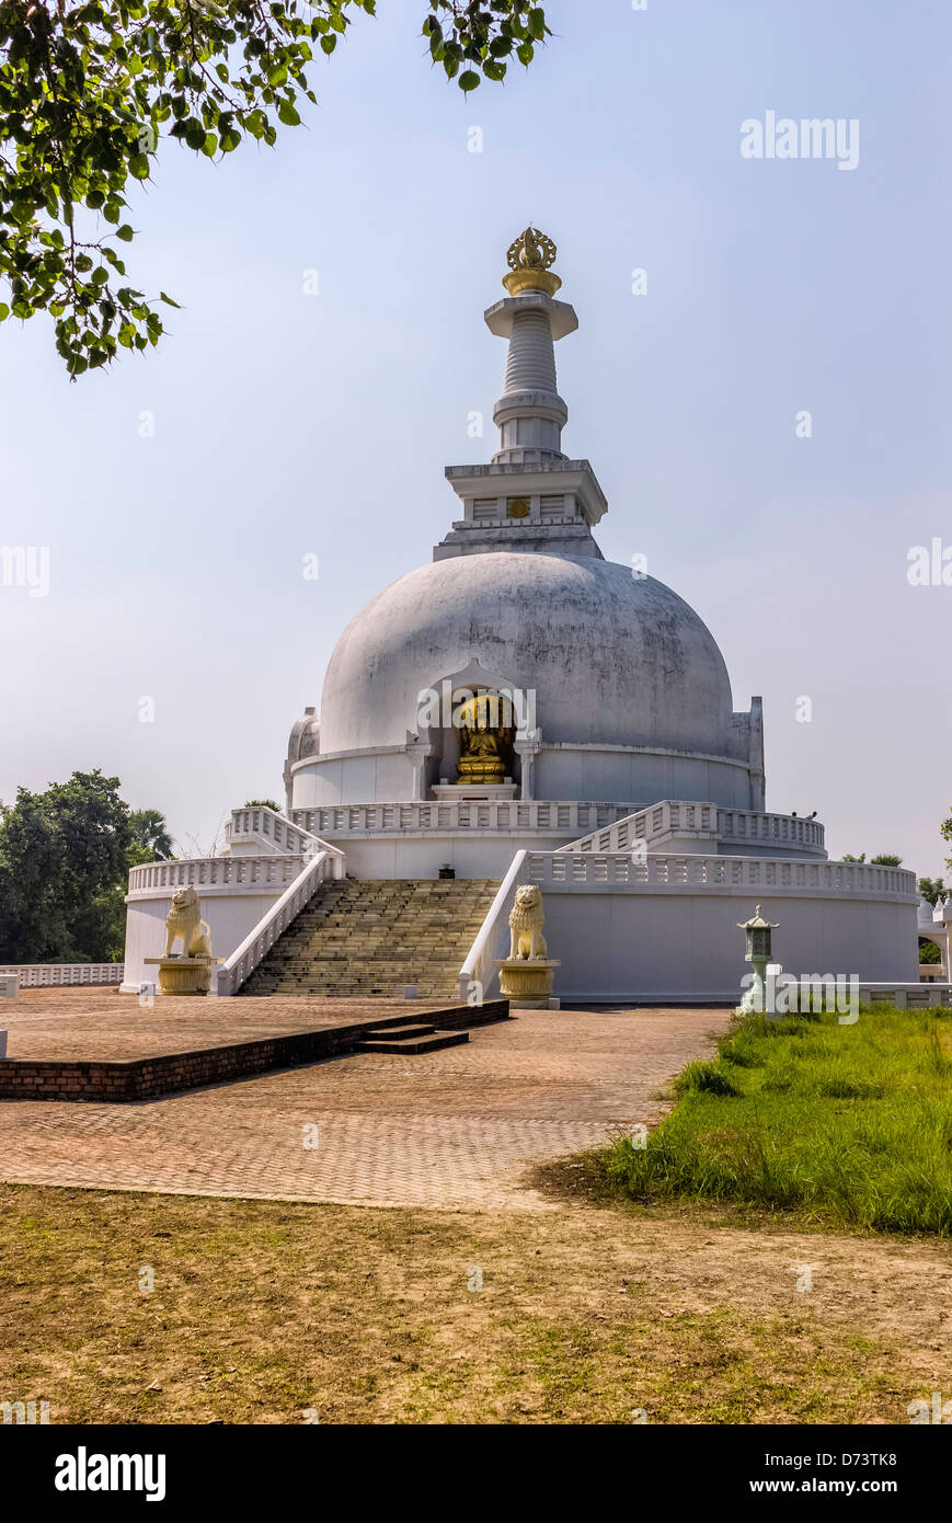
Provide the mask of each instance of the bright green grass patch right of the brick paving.
{"label": "bright green grass patch right of the brick paving", "polygon": [[751,1016],[675,1090],[646,1147],[605,1156],[612,1189],[952,1235],[952,1010]]}

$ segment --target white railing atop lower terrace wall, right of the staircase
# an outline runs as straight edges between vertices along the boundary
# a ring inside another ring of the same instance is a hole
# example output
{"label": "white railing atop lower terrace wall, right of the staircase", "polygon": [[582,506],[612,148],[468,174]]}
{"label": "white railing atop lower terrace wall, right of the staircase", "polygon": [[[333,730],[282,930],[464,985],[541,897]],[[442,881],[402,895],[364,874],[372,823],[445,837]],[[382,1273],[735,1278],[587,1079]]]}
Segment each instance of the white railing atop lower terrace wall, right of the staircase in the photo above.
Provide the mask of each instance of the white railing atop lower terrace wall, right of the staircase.
{"label": "white railing atop lower terrace wall, right of the staircase", "polygon": [[915,874],[864,862],[803,862],[786,857],[730,857],[626,853],[530,851],[527,882],[562,891],[704,892],[742,889],[762,894],[906,899],[917,902]]}

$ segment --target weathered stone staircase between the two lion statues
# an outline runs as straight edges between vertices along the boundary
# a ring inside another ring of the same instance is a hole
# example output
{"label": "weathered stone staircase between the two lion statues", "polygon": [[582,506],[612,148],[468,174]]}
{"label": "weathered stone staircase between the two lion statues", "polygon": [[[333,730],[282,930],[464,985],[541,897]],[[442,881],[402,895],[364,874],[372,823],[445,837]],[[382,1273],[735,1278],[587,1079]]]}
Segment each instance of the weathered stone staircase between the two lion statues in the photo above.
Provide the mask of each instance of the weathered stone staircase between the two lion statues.
{"label": "weathered stone staircase between the two lion statues", "polygon": [[457,999],[457,975],[495,899],[494,879],[341,879],[302,909],[242,995]]}

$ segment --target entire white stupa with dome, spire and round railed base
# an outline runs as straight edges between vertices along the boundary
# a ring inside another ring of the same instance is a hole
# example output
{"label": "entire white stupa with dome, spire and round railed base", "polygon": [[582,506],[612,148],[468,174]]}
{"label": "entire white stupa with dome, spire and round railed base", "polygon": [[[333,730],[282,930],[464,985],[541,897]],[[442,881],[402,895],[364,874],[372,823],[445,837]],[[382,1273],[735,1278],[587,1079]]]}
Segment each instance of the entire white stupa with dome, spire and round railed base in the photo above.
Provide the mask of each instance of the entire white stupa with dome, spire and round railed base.
{"label": "entire white stupa with dome, spire and round railed base", "polygon": [[235,991],[326,876],[448,867],[503,885],[462,973],[487,970],[536,882],[562,999],[736,1001],[754,900],[789,972],[918,979],[914,874],[830,862],[815,818],[766,810],[760,698],[736,710],[698,614],[605,560],[605,493],[561,445],[554,346],[577,318],[553,257],[532,228],[509,250],[486,312],[509,344],[500,448],[446,469],[460,507],[431,562],[341,634],[320,719],[291,730],[285,813],[235,810],[221,857],[133,870],[125,988],[180,883]]}

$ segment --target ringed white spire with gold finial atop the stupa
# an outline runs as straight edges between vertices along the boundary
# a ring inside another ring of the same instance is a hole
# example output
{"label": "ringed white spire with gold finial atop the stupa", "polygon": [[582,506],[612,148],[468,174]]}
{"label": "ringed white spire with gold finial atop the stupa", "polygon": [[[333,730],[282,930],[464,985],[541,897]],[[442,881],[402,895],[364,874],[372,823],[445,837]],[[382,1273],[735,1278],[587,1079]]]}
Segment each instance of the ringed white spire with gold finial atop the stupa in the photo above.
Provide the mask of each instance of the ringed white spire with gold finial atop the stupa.
{"label": "ringed white spire with gold finial atop the stupa", "polygon": [[556,245],[527,227],[509,248],[503,285],[509,295],[486,312],[490,332],[509,338],[506,390],[494,408],[500,449],[494,465],[542,465],[564,460],[562,428],[568,408],[556,388],[554,341],[579,320],[565,302],[553,300],[562,285],[550,265]]}

